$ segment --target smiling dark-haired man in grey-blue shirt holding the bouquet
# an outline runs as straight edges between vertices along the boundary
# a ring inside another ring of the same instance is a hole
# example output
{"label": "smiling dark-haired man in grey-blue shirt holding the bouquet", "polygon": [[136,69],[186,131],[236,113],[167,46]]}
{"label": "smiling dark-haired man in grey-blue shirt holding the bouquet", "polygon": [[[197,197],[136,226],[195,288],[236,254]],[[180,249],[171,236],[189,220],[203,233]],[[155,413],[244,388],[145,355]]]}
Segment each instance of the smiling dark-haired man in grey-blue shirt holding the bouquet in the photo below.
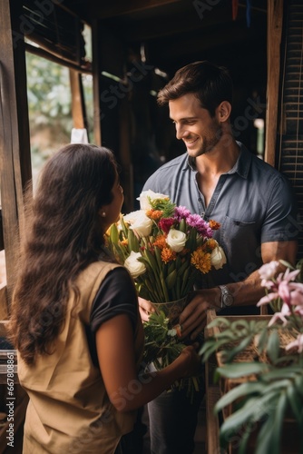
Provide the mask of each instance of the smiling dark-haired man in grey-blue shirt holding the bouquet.
{"label": "smiling dark-haired man in grey-blue shirt holding the bouquet", "polygon": [[[258,269],[263,263],[294,264],[298,224],[288,181],[233,138],[230,125],[232,82],[226,68],[196,62],[181,68],[158,94],[187,153],[165,163],[147,180],[205,220],[220,222],[214,238],[227,263],[210,271],[181,313],[182,335],[194,340],[205,327],[206,310],[223,314],[258,313],[264,295]],[[151,306],[140,300],[142,320]],[[190,454],[202,393],[191,405],[181,391],[163,393],[149,404],[152,453]],[[181,404],[180,404],[181,402]],[[182,405],[182,407],[181,407]]]}

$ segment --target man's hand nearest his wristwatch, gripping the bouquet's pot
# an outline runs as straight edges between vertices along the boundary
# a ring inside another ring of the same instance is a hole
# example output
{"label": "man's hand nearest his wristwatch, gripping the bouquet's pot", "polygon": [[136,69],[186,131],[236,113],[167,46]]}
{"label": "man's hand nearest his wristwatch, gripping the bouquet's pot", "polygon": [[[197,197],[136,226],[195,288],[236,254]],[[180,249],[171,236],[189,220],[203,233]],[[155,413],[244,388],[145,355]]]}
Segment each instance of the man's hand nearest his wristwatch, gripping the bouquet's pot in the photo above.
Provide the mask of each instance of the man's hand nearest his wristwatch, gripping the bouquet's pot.
{"label": "man's hand nearest his wristwatch, gripping the bouquet's pot", "polygon": [[181,312],[181,338],[191,337],[195,340],[206,325],[206,311],[220,309],[220,289],[194,291],[191,302]]}

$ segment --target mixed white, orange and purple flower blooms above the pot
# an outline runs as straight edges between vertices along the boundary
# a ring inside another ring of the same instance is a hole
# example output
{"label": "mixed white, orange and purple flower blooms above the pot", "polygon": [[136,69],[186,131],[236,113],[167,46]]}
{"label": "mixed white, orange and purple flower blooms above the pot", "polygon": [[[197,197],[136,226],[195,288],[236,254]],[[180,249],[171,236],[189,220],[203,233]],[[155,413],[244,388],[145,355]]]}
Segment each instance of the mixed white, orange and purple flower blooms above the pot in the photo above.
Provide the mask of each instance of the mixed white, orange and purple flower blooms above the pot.
{"label": "mixed white, orange and purple flower blooms above the pot", "polygon": [[226,262],[212,239],[220,224],[176,206],[167,195],[145,191],[139,200],[140,210],[112,224],[108,246],[132,274],[139,296],[152,302],[180,300],[198,274]]}

